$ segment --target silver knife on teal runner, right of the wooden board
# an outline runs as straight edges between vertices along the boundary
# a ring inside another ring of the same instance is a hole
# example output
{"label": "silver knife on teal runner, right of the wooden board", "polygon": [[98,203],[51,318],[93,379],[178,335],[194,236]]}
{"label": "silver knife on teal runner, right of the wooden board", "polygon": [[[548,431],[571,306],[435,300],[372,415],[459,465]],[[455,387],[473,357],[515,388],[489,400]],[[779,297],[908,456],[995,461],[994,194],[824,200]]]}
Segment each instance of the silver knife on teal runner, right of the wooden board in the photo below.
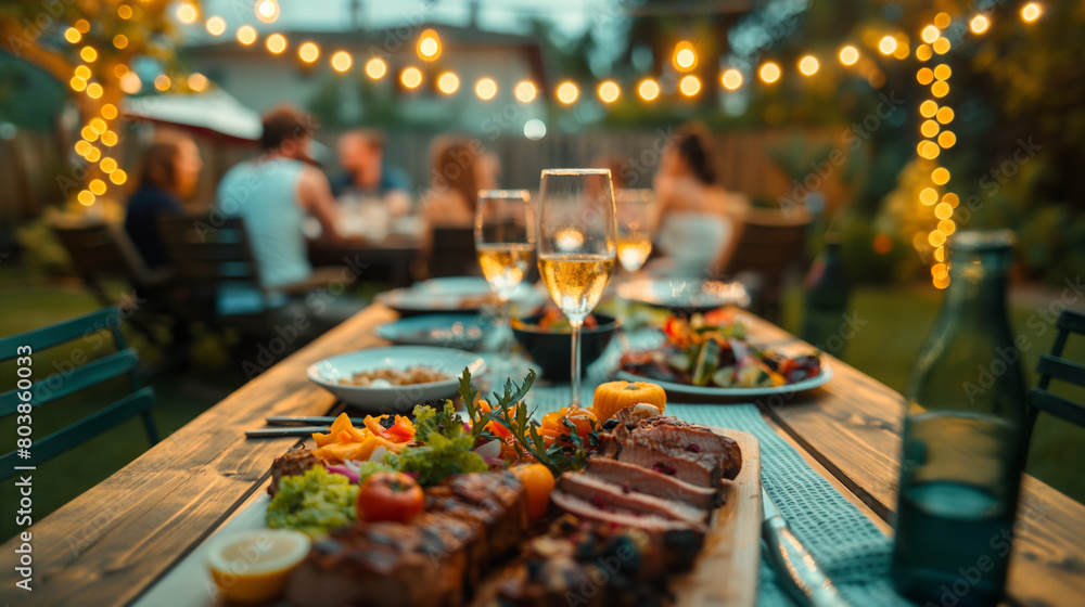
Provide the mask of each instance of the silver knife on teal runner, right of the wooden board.
{"label": "silver knife on teal runner, right of the wooden board", "polygon": [[832,580],[788,527],[765,488],[761,489],[765,520],[761,524],[765,553],[788,594],[809,607],[848,607]]}

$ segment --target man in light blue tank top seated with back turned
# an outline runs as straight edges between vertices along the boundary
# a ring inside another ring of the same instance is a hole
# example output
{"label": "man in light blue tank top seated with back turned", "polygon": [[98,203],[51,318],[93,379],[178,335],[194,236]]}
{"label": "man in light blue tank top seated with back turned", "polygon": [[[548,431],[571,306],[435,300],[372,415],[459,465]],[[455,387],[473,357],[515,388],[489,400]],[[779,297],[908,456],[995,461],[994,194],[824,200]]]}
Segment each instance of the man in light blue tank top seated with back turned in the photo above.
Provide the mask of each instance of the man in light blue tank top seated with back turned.
{"label": "man in light blue tank top seated with back turned", "polygon": [[[233,166],[216,192],[216,206],[227,217],[244,220],[259,280],[269,300],[247,285],[226,285],[219,292],[219,312],[256,313],[288,302],[280,287],[312,282],[318,277],[309,263],[303,223],[315,217],[332,242],[346,241],[339,232],[339,209],[328,178],[308,157],[316,131],[312,118],[299,109],[279,106],[263,118],[263,154]],[[318,328],[330,328],[360,309],[346,297],[305,312]]]}

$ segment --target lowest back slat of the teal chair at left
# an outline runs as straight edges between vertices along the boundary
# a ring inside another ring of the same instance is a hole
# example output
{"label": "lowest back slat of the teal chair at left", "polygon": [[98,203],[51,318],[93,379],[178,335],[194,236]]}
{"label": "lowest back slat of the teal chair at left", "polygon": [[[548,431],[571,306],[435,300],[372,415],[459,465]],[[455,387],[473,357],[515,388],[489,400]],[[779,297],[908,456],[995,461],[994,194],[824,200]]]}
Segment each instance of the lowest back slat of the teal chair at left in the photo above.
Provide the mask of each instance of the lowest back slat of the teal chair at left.
{"label": "lowest back slat of the teal chair at left", "polygon": [[36,466],[87,442],[105,430],[119,426],[136,415],[146,415],[153,405],[154,391],[149,387],[143,388],[43,439],[35,440],[28,460],[20,459],[14,451],[0,456],[0,480],[7,480],[18,474],[14,466]]}

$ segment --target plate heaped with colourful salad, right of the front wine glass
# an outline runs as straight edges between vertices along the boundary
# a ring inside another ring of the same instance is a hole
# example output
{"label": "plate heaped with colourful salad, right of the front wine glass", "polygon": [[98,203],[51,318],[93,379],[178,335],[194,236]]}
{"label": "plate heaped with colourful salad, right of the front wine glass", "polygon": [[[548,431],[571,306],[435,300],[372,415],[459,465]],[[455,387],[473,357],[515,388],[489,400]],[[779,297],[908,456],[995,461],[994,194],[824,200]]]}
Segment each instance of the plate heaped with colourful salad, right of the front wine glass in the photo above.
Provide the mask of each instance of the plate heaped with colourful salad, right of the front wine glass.
{"label": "plate heaped with colourful salad, right of the front wine glass", "polygon": [[699,396],[758,397],[822,386],[832,370],[817,351],[790,354],[746,340],[745,325],[725,312],[669,317],[664,343],[626,352],[615,376],[648,379],[667,391]]}

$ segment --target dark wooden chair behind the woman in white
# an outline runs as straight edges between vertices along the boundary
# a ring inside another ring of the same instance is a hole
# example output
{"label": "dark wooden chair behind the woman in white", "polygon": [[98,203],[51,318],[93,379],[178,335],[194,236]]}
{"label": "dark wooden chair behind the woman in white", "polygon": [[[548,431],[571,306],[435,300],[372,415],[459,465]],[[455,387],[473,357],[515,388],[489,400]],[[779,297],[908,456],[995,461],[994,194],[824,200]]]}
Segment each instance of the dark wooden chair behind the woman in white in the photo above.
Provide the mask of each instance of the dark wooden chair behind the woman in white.
{"label": "dark wooden chair behind the woman in white", "polygon": [[774,321],[780,313],[783,279],[802,258],[810,215],[805,209],[788,212],[749,209],[739,242],[722,274],[749,276],[752,310]]}

